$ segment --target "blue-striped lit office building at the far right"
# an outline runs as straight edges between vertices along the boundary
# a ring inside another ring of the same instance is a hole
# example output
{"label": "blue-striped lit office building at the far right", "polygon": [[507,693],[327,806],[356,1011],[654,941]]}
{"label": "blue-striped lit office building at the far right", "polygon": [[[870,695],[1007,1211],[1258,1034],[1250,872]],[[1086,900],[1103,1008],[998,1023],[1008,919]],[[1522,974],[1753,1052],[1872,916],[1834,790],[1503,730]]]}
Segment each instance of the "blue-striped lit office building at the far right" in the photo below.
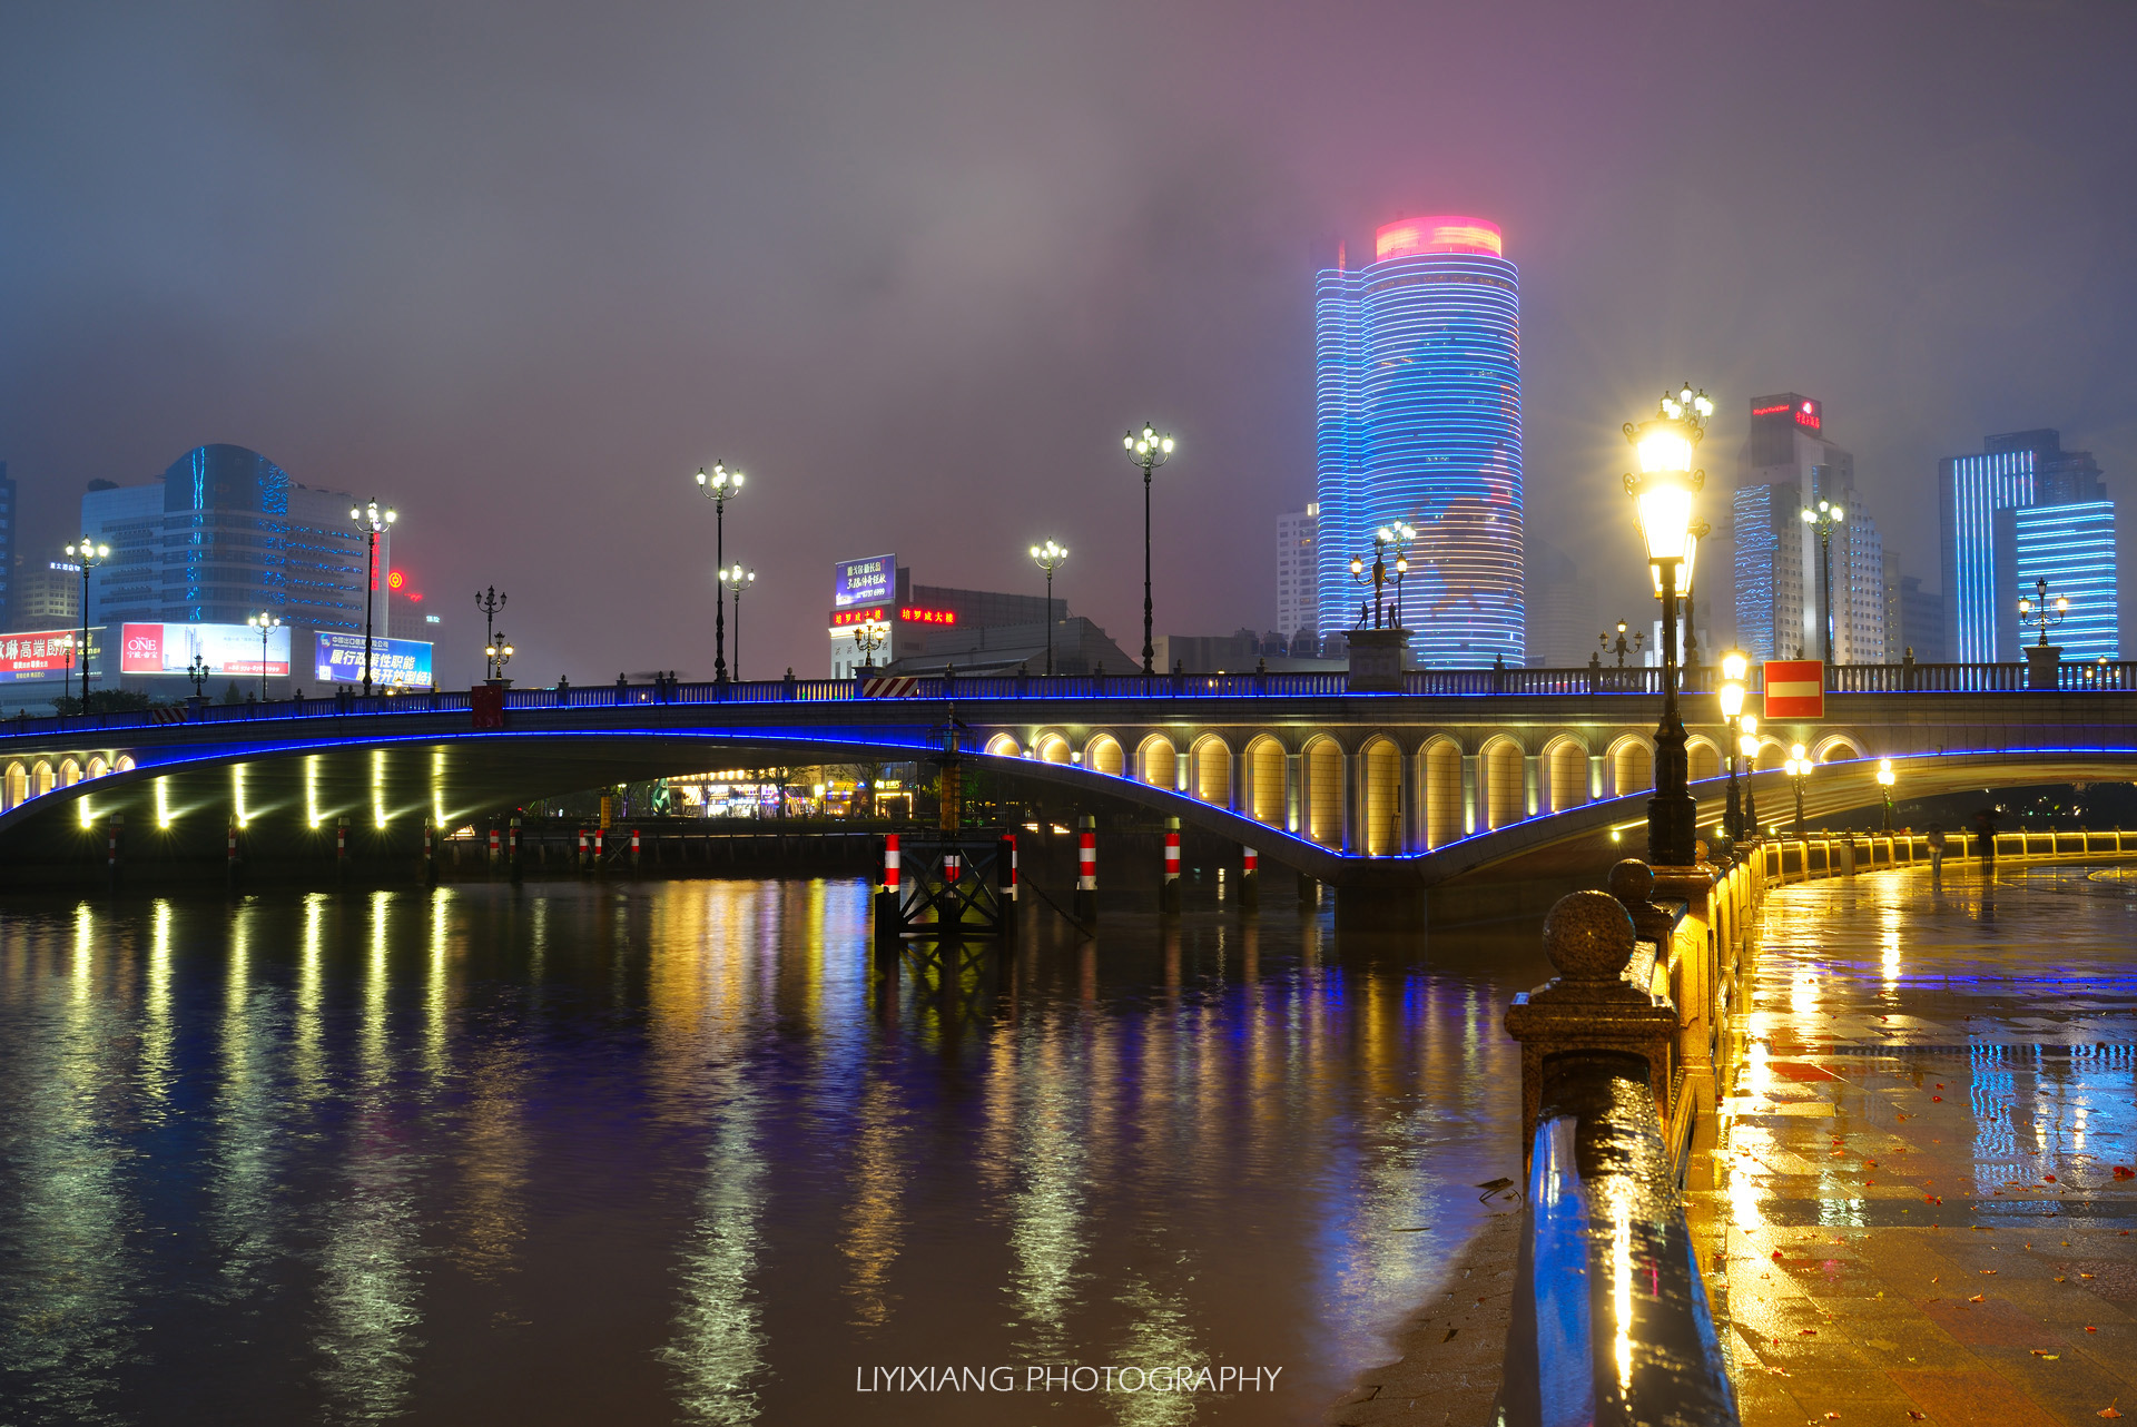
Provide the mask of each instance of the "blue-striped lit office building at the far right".
{"label": "blue-striped lit office building at the far right", "polygon": [[2047,579],[2071,600],[2049,643],[2064,658],[2118,658],[2116,506],[2090,451],[2054,429],[2002,432],[1936,464],[1945,630],[1964,664],[2022,658],[2017,600]]}

